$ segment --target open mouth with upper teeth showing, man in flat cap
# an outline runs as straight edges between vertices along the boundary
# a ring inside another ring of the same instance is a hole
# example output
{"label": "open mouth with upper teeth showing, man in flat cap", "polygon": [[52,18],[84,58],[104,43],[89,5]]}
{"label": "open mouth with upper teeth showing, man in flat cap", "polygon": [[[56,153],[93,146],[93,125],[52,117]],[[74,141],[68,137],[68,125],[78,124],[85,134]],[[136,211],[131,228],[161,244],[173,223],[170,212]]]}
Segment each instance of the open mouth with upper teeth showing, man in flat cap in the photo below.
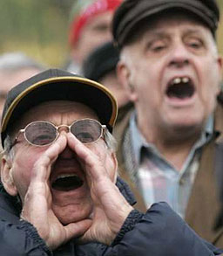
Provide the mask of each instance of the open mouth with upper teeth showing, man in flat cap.
{"label": "open mouth with upper teeth showing, man in flat cap", "polygon": [[170,80],[166,88],[166,95],[169,98],[185,100],[191,98],[193,93],[195,93],[195,86],[193,80],[188,77],[174,78]]}

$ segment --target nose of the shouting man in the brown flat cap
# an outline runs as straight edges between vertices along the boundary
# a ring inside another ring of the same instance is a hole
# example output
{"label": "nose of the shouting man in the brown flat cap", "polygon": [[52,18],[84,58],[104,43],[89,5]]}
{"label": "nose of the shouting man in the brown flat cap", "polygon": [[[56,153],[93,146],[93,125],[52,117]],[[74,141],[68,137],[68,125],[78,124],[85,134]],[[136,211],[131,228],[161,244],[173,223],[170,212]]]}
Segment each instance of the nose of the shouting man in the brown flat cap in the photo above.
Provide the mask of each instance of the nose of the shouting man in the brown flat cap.
{"label": "nose of the shouting man in the brown flat cap", "polygon": [[177,43],[172,47],[170,54],[169,66],[180,68],[190,63],[190,52],[186,50],[183,43]]}

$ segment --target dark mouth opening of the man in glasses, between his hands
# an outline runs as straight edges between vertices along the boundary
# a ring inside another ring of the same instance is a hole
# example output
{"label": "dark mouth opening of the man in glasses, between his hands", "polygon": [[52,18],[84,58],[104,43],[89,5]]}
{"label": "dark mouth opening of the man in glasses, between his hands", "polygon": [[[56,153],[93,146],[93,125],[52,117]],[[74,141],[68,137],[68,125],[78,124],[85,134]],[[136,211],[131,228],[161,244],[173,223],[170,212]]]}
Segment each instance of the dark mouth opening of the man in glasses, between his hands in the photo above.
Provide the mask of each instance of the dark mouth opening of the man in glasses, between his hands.
{"label": "dark mouth opening of the man in glasses, between his hands", "polygon": [[81,187],[83,183],[84,182],[78,176],[66,176],[57,178],[57,180],[52,183],[52,188],[61,191],[76,190]]}

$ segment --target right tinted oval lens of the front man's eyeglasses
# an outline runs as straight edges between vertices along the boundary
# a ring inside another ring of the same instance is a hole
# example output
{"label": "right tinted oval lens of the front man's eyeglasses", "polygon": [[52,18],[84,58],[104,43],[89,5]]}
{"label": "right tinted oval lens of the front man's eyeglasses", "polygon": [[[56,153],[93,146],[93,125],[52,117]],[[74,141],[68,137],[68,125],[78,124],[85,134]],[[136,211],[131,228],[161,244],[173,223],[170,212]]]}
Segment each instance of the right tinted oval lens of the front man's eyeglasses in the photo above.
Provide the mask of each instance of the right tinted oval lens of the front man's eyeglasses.
{"label": "right tinted oval lens of the front man's eyeglasses", "polygon": [[71,133],[75,135],[80,142],[96,142],[101,136],[102,128],[98,121],[80,120],[73,123]]}

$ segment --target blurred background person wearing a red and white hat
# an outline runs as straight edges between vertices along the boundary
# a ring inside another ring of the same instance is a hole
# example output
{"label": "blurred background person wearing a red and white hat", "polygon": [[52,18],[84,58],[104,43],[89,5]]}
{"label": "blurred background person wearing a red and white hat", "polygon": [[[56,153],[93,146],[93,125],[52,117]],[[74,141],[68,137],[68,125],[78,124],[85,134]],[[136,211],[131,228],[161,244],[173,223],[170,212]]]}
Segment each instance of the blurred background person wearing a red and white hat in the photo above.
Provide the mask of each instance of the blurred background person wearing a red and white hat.
{"label": "blurred background person wearing a red and white hat", "polygon": [[111,19],[121,0],[88,0],[74,3],[69,45],[71,63],[66,69],[71,73],[82,73],[81,66],[86,56],[111,40]]}

